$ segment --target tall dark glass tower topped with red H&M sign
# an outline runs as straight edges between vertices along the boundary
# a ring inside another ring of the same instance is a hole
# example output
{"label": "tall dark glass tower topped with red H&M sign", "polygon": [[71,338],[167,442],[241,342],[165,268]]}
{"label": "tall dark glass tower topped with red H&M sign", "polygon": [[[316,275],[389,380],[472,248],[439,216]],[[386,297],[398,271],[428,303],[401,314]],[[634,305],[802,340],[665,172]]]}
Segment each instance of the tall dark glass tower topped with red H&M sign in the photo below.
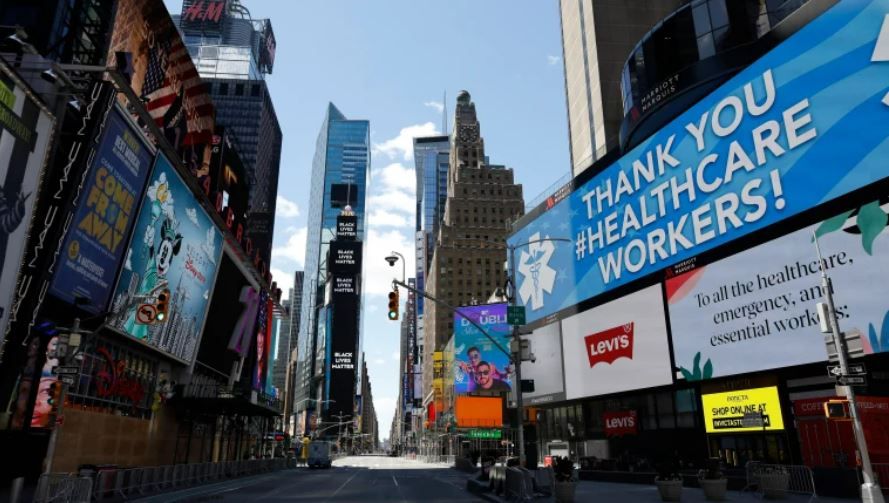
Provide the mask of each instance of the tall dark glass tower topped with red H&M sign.
{"label": "tall dark glass tower topped with red H&M sign", "polygon": [[[247,236],[266,266],[272,253],[281,127],[265,82],[275,62],[268,19],[252,19],[239,0],[185,0],[173,16],[216,105],[216,123],[238,138],[250,179]],[[186,162],[200,162],[200,153]]]}

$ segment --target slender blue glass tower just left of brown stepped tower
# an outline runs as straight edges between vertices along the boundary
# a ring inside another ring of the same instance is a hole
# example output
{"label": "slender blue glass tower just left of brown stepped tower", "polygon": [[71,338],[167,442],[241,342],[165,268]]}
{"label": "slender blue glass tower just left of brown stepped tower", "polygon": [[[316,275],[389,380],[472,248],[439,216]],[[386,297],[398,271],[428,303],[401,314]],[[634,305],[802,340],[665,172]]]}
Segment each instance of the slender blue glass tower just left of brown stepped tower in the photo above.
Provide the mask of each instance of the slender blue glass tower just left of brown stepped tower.
{"label": "slender blue glass tower just left of brown stepped tower", "polygon": [[[445,201],[448,198],[450,149],[451,141],[447,135],[414,138],[414,171],[417,176],[416,285],[420,290],[426,285],[426,271],[432,260],[432,248],[435,245],[435,236],[438,235],[438,224],[444,215]],[[414,344],[418,348],[418,351],[415,351],[414,363],[418,365],[423,363],[425,346],[423,331],[425,300],[422,296],[417,298],[414,309],[405,313],[405,316],[413,318]]]}

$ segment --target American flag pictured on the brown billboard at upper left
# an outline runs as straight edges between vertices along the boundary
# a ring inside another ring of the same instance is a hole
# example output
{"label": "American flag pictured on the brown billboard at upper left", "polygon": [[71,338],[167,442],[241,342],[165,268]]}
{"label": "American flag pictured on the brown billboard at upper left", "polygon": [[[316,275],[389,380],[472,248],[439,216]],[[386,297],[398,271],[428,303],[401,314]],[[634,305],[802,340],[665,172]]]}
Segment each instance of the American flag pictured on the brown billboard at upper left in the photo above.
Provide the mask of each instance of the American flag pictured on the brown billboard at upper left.
{"label": "American flag pictured on the brown billboard at upper left", "polygon": [[177,125],[185,119],[182,145],[209,141],[213,134],[213,102],[175,31],[172,40],[157,37],[149,47],[142,96],[158,127],[179,129]]}

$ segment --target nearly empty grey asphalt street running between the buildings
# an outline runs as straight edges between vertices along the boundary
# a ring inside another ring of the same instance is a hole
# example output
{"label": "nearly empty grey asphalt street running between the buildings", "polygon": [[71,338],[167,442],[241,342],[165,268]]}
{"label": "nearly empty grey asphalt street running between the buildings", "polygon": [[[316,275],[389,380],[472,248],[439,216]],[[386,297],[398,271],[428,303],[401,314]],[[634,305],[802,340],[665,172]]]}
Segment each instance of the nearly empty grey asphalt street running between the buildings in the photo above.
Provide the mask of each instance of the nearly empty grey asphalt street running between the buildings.
{"label": "nearly empty grey asphalt street running between the buildings", "polygon": [[482,501],[466,492],[465,483],[445,465],[355,456],[334,461],[329,470],[282,470],[138,501]]}

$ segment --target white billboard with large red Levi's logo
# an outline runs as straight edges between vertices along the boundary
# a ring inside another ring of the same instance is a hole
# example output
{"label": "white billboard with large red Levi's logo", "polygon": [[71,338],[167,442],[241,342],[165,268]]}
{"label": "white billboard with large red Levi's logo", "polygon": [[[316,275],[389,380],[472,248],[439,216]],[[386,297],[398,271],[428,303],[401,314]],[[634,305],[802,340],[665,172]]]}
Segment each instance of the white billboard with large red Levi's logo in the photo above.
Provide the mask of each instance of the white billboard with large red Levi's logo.
{"label": "white billboard with large red Levi's logo", "polygon": [[562,320],[565,398],[673,382],[660,285]]}

